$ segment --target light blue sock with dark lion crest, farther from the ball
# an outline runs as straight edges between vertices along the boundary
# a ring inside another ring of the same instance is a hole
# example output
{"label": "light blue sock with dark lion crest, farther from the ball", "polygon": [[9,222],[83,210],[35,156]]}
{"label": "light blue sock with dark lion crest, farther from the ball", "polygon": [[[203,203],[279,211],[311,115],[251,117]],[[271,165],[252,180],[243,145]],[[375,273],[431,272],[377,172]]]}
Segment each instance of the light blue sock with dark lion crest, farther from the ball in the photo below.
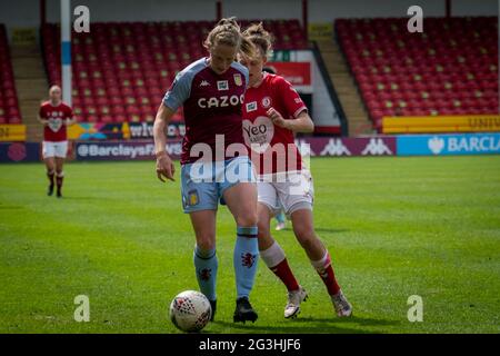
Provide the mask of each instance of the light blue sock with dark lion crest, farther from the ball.
{"label": "light blue sock with dark lion crest, farther from the ball", "polygon": [[238,227],[234,245],[233,264],[238,298],[248,297],[252,290],[259,259],[257,226]]}

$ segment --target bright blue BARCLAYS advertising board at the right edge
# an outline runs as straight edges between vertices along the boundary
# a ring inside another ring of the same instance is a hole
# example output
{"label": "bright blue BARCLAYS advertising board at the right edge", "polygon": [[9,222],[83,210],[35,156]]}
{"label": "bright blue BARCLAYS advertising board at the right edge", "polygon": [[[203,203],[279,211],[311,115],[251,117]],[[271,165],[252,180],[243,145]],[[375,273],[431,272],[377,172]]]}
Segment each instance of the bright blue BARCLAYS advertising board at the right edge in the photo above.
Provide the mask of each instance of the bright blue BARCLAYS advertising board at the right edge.
{"label": "bright blue BARCLAYS advertising board at the right edge", "polygon": [[398,156],[500,154],[500,134],[404,135],[397,137]]}

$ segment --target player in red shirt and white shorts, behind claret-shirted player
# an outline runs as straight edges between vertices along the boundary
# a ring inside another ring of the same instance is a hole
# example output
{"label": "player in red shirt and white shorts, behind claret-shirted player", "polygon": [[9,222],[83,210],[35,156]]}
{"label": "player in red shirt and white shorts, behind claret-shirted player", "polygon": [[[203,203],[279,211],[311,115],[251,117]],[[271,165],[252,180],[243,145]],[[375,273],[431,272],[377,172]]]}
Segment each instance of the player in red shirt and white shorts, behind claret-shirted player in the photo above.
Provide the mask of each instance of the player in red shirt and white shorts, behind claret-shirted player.
{"label": "player in red shirt and white shorts, behind claret-shirted player", "polygon": [[297,240],[326,285],[336,314],[350,316],[352,307],[337,283],[330,254],[314,231],[312,177],[293,139],[294,132],[312,132],[313,122],[292,86],[280,76],[262,71],[271,51],[271,37],[262,23],[250,26],[243,36],[256,46],[258,53],[256,57],[241,55],[240,63],[249,69],[250,77],[243,103],[243,136],[258,174],[260,257],[288,289],[284,317],[297,316],[307,293],[269,228],[281,205],[291,219]]}

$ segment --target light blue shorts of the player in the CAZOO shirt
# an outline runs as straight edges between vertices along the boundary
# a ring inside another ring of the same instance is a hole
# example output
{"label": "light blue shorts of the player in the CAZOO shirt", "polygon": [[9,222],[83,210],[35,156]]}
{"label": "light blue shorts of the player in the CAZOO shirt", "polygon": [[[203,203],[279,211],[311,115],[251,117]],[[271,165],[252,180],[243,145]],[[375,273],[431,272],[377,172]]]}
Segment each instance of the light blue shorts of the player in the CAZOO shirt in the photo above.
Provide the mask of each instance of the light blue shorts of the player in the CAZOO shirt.
{"label": "light blue shorts of the player in the CAZOO shirt", "polygon": [[240,182],[257,182],[249,157],[224,161],[193,162],[181,168],[182,208],[186,214],[217,210],[226,189]]}

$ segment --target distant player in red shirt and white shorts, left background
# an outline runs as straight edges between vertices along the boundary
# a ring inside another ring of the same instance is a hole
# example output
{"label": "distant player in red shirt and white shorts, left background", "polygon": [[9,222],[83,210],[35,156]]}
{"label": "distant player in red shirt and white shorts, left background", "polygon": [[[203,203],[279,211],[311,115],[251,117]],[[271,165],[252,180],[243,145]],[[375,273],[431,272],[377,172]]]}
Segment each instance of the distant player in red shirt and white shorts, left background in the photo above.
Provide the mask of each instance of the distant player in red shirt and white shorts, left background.
{"label": "distant player in red shirt and white shorts, left background", "polygon": [[62,197],[62,179],[64,172],[62,165],[68,152],[67,127],[73,125],[73,110],[61,101],[61,88],[52,86],[49,89],[49,100],[42,102],[38,120],[43,125],[43,160],[49,177],[48,195],[53,194],[54,178],[57,197]]}

